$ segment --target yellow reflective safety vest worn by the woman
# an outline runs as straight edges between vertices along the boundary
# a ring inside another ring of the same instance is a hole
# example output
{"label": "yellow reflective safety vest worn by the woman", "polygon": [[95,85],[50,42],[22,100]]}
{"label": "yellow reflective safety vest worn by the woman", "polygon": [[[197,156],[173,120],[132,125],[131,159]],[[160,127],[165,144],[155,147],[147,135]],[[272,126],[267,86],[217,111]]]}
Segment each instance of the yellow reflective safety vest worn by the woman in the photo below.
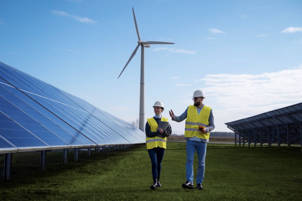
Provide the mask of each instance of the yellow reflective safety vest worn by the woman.
{"label": "yellow reflective safety vest worn by the woman", "polygon": [[[160,121],[166,121],[168,122],[167,118],[162,117]],[[158,127],[156,121],[154,118],[149,118],[147,119],[148,124],[151,127],[151,132],[156,132],[156,129]],[[166,142],[167,142],[167,137],[147,137],[146,136],[146,144],[147,144],[147,149],[153,149],[154,147],[161,147],[166,149]]]}

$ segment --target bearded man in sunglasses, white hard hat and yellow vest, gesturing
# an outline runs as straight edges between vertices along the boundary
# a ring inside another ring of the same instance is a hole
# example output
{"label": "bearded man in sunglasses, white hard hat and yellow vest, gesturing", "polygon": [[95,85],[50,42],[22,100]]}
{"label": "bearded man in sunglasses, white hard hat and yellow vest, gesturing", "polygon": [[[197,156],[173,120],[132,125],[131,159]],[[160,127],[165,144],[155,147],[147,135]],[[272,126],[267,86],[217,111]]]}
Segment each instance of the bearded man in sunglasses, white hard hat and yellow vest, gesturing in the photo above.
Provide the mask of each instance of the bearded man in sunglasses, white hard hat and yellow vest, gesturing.
{"label": "bearded man in sunglasses, white hard hat and yellow vest, gesturing", "polygon": [[186,179],[182,184],[183,188],[193,189],[193,161],[194,153],[197,150],[198,169],[196,175],[197,189],[203,190],[202,182],[204,180],[204,167],[207,142],[209,141],[210,131],[214,130],[213,111],[210,107],[203,104],[204,92],[196,90],[193,93],[194,105],[189,105],[184,113],[180,116],[175,116],[173,111],[169,111],[173,121],[181,122],[186,119],[185,124],[185,139],[187,140],[186,152]]}

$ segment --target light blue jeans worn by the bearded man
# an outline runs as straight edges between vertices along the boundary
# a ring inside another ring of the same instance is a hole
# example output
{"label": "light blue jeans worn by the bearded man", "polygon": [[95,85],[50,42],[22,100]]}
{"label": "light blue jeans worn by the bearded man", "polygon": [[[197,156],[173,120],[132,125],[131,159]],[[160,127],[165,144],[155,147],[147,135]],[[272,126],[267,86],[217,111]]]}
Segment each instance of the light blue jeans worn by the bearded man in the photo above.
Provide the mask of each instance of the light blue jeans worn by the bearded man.
{"label": "light blue jeans worn by the bearded man", "polygon": [[186,152],[187,152],[187,163],[186,163],[186,179],[193,184],[194,174],[193,174],[193,162],[194,154],[197,150],[198,156],[198,169],[196,175],[196,183],[202,184],[204,181],[204,167],[207,151],[207,143],[198,142],[194,140],[187,140]]}

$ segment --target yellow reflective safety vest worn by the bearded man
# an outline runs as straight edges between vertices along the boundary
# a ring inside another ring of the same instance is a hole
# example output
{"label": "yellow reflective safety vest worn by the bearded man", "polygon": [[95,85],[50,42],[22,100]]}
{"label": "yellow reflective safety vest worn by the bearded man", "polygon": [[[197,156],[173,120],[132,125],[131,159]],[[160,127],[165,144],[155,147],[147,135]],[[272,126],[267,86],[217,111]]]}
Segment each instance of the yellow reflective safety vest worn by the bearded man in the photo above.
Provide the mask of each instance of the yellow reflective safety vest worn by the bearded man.
{"label": "yellow reflective safety vest worn by the bearded man", "polygon": [[209,126],[209,116],[211,108],[205,106],[200,111],[199,115],[197,108],[194,105],[189,105],[188,116],[185,125],[185,137],[198,137],[202,139],[209,139],[210,133],[202,133],[198,130],[198,126]]}

